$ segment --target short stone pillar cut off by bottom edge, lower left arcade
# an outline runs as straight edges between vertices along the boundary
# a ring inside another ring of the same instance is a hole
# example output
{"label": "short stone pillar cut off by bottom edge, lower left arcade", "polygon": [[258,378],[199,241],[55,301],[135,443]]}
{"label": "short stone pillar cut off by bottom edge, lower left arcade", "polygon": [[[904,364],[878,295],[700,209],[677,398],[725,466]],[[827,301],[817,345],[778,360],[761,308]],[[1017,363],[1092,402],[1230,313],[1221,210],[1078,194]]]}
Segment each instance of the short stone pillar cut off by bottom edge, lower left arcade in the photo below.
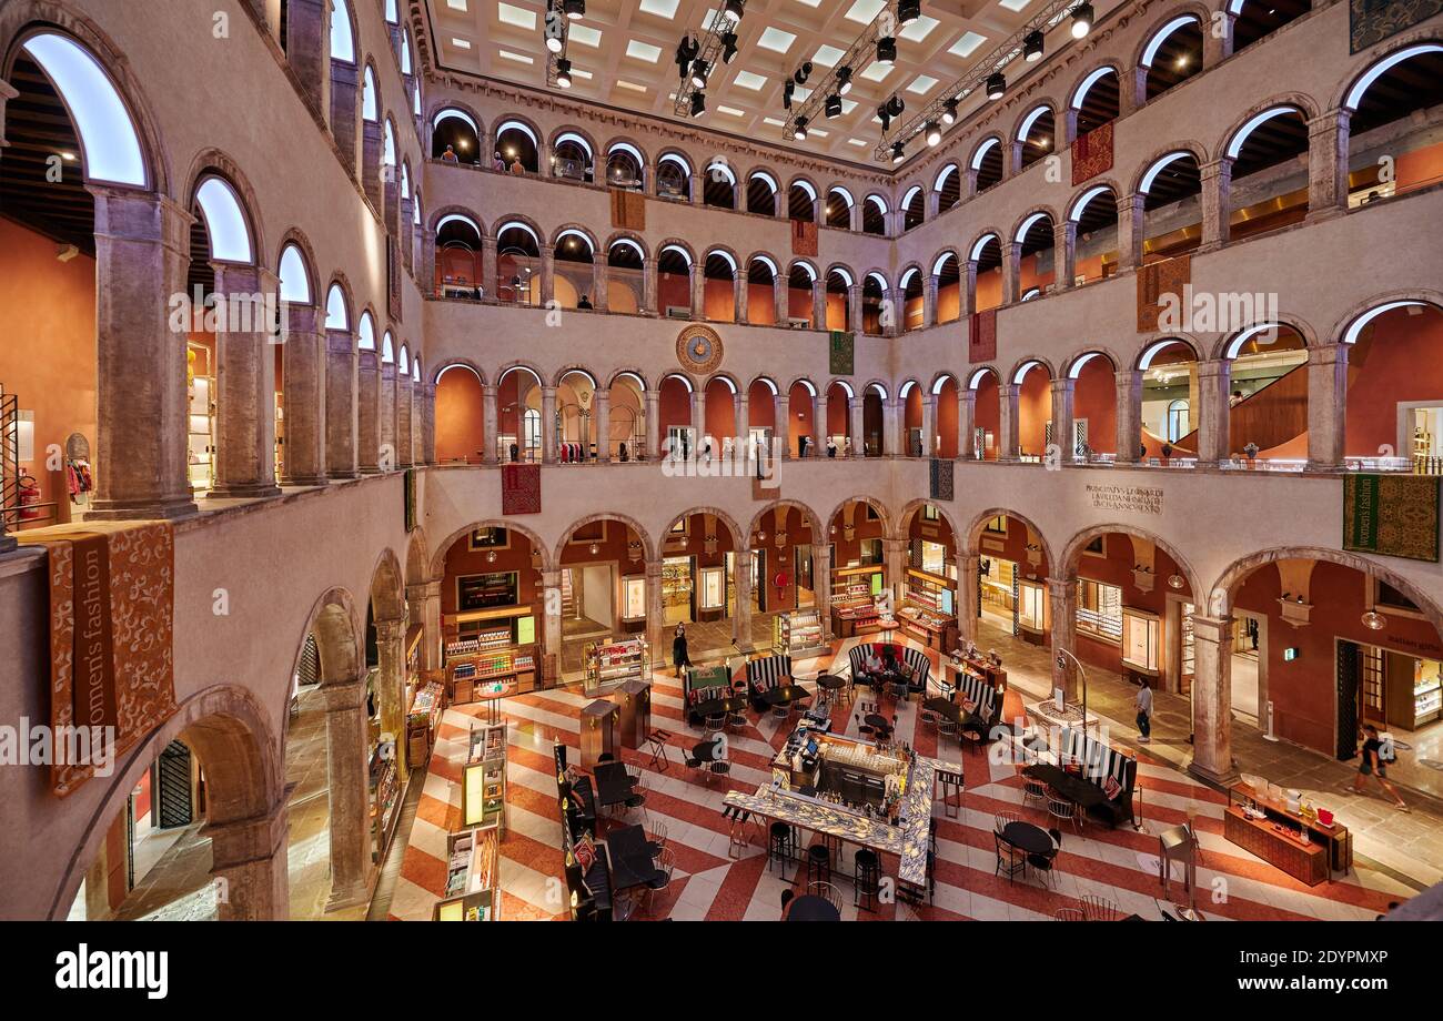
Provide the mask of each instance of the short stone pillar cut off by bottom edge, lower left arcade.
{"label": "short stone pillar cut off by bottom edge, lower left arcade", "polygon": [[225,884],[221,921],[286,921],[290,919],[290,875],[286,870],[286,800],[247,819],[216,819],[201,828],[211,838],[211,875]]}

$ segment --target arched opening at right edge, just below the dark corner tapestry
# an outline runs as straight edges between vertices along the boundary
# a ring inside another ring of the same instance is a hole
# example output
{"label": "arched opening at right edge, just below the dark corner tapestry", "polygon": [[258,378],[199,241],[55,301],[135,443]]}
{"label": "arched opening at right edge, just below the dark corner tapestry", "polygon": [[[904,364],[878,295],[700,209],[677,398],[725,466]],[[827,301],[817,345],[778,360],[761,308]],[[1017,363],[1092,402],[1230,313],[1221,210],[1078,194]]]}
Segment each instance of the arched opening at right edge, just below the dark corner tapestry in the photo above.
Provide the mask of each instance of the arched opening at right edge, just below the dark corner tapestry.
{"label": "arched opening at right edge, just below the dark corner tapestry", "polygon": [[1443,104],[1443,43],[1405,46],[1372,65],[1343,97],[1349,205],[1436,185],[1443,141],[1426,111]]}

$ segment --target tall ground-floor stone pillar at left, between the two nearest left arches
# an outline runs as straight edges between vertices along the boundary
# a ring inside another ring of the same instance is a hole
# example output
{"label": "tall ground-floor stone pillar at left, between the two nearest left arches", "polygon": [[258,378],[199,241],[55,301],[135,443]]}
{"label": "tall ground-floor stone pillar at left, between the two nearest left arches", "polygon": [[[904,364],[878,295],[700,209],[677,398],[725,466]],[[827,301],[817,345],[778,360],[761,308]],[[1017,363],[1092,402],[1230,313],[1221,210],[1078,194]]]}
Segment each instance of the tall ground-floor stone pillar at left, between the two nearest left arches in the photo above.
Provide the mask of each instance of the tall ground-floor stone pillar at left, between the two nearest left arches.
{"label": "tall ground-floor stone pillar at left, between the two nearest left arches", "polygon": [[320,695],[326,707],[326,800],[330,808],[330,898],[326,910],[332,911],[364,904],[371,891],[365,682],[351,678],[323,684]]}

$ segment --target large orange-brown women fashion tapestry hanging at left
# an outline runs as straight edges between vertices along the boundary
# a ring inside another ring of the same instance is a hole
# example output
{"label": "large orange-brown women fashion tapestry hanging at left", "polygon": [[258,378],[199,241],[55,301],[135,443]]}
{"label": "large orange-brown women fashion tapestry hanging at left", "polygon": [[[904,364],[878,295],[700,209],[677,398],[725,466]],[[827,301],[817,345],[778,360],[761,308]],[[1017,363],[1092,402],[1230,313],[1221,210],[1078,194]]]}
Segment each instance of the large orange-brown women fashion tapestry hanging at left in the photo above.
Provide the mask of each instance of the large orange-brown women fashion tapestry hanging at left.
{"label": "large orange-brown women fashion tapestry hanging at left", "polygon": [[[108,734],[114,763],[176,712],[175,532],[169,522],[87,522],[14,538],[49,554],[52,733],[88,738],[68,754]],[[94,761],[56,759],[51,790],[74,793]]]}

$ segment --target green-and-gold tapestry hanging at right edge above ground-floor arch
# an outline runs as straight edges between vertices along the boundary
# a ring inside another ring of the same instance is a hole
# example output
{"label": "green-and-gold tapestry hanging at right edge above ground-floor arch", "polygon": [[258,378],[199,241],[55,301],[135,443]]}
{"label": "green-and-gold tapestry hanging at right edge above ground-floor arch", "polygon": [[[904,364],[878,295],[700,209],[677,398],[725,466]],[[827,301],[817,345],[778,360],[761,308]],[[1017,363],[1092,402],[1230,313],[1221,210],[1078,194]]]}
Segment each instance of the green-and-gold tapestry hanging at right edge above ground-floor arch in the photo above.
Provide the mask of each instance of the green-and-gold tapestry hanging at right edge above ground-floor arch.
{"label": "green-and-gold tapestry hanging at right edge above ground-floor arch", "polygon": [[1439,560],[1439,480],[1424,474],[1343,476],[1343,549]]}

